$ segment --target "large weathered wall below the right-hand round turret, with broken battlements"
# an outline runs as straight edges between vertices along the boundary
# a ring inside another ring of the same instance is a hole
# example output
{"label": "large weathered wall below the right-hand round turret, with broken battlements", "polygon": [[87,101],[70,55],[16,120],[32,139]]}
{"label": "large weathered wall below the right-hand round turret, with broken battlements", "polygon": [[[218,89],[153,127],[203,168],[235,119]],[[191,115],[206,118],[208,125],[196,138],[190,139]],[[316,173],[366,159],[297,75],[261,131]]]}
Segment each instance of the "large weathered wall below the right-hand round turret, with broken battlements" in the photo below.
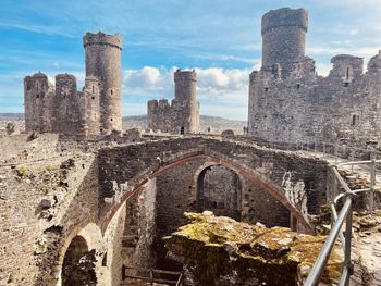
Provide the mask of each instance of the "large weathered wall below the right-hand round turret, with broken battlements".
{"label": "large weathered wall below the right-hand round turret, with broken battlements", "polygon": [[[328,77],[276,80],[272,74],[254,72],[249,135],[269,141],[378,141],[381,73],[361,74],[348,61],[352,57],[342,58]],[[374,60],[381,61],[380,55]]]}

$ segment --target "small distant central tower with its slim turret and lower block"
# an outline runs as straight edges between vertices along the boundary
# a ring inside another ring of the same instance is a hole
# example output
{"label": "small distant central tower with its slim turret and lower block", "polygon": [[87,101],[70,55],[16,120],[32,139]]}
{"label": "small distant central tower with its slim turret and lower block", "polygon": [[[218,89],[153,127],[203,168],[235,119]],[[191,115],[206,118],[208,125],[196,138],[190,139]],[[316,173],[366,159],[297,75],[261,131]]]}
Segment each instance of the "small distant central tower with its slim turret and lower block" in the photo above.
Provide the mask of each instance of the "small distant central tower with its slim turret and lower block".
{"label": "small distant central tower with its slim turret and lower block", "polygon": [[147,103],[148,127],[172,134],[199,130],[199,103],[196,98],[197,74],[177,70],[174,73],[174,99],[153,99]]}

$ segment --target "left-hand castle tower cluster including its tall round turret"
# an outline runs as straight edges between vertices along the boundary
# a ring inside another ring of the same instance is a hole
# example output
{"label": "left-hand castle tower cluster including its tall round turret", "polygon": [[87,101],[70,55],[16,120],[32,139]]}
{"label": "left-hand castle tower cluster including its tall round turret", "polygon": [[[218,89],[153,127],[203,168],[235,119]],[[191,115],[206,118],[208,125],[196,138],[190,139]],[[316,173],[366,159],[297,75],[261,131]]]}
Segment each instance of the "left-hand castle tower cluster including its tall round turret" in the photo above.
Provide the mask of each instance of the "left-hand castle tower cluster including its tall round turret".
{"label": "left-hand castle tower cluster including its tall round turret", "polygon": [[86,77],[82,91],[70,74],[37,73],[24,79],[26,132],[107,135],[122,130],[120,35],[87,33],[83,38]]}

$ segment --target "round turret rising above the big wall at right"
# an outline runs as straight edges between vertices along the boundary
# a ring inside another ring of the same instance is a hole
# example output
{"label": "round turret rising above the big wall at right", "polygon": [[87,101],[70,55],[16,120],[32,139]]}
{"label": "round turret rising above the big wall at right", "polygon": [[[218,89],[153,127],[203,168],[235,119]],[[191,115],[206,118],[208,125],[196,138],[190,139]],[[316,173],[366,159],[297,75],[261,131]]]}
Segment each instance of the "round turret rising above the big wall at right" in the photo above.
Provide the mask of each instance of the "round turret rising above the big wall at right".
{"label": "round turret rising above the big wall at right", "polygon": [[282,69],[282,77],[290,75],[293,63],[305,55],[308,12],[304,9],[282,8],[262,16],[262,70]]}

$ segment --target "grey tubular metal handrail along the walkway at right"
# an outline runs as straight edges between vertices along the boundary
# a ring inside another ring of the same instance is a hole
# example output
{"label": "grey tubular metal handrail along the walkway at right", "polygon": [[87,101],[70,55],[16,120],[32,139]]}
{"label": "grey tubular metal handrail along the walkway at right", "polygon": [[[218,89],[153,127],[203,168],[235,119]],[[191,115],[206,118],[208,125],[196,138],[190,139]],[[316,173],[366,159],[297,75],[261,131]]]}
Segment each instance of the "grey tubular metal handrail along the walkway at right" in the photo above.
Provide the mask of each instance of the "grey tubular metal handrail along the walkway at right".
{"label": "grey tubular metal handrail along the walkway at right", "polygon": [[[340,286],[347,286],[349,284],[349,277],[354,273],[354,264],[351,260],[351,241],[352,241],[352,225],[353,225],[353,200],[354,197],[359,192],[369,192],[368,196],[368,211],[372,213],[373,210],[373,195],[374,195],[374,187],[376,187],[376,166],[377,163],[380,163],[381,161],[377,160],[369,160],[369,161],[354,161],[354,162],[345,162],[341,163],[339,165],[332,166],[332,171],[334,174],[333,178],[333,197],[331,201],[331,211],[332,211],[332,225],[331,231],[327,237],[327,240],[324,245],[322,246],[320,253],[314,264],[312,270],[310,271],[307,281],[305,283],[305,286],[316,286],[318,285],[320,281],[320,276],[322,272],[325,269],[327,262],[329,260],[329,257],[332,252],[332,249],[334,247],[334,244],[340,238],[340,243],[343,246],[344,251],[344,261],[342,262],[342,270],[341,270],[341,279],[340,279]],[[337,167],[339,166],[345,166],[345,165],[370,165],[370,186],[369,188],[362,188],[362,189],[355,189],[352,190],[344,178],[341,176]],[[335,189],[336,189],[336,181],[340,183],[340,186],[344,189],[344,192],[335,196]],[[337,214],[337,203],[340,201],[344,200],[343,207],[341,208],[339,214]],[[342,226],[345,221],[345,231],[342,231]]]}

